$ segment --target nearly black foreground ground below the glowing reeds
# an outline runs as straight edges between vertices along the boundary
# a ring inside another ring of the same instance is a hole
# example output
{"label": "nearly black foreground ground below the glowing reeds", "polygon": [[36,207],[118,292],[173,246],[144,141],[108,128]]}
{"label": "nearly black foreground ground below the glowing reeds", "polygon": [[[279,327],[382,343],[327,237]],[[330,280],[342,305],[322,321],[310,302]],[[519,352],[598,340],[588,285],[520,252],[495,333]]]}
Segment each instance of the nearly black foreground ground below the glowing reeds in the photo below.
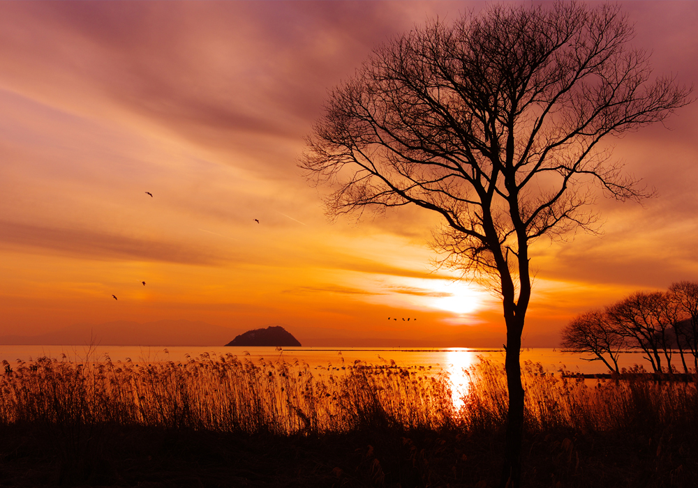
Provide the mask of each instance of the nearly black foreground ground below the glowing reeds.
{"label": "nearly black foreground ground below the glowing reeds", "polygon": [[[698,487],[696,432],[528,434],[526,487]],[[75,441],[80,439],[80,442]],[[0,487],[495,487],[503,436],[0,427]]]}

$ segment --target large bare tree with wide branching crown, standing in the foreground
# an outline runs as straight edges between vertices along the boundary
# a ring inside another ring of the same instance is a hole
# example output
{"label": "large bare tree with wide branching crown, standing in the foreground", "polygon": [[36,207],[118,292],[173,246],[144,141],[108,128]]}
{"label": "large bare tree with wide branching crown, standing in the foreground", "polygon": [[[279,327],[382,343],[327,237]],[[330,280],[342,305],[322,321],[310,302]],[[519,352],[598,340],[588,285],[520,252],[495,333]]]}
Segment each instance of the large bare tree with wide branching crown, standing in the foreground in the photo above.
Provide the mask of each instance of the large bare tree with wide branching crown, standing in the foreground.
{"label": "large bare tree with wide branching crown, standing in the foreground", "polygon": [[688,103],[690,88],[651,79],[632,37],[618,6],[566,2],[415,27],[329,93],[300,162],[334,185],[330,215],[434,211],[445,222],[437,244],[454,263],[496,280],[507,327],[503,487],[518,487],[521,473],[529,247],[591,226],[594,184],[616,199],[645,197],[599,143]]}

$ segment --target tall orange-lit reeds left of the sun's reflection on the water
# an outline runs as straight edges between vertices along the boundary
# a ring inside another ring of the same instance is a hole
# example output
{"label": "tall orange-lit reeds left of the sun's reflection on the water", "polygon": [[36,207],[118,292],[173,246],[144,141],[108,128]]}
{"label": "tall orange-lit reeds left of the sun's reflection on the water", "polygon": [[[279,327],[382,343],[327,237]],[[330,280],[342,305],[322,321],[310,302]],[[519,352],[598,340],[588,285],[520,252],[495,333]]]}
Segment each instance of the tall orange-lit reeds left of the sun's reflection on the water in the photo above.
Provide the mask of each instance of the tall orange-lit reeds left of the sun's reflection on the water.
{"label": "tall orange-lit reeds left of the sun's reflection on the water", "polygon": [[246,434],[370,426],[440,429],[455,418],[443,374],[363,363],[313,372],[204,354],[135,364],[37,358],[0,377],[0,424],[144,425]]}

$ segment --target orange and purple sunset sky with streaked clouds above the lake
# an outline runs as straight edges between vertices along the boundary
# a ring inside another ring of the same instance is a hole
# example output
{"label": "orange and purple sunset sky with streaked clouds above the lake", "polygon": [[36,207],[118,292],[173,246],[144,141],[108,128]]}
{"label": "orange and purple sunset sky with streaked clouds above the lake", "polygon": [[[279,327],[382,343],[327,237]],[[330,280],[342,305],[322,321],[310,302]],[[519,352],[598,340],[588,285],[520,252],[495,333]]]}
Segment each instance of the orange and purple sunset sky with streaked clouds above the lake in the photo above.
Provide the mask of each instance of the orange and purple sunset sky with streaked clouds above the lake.
{"label": "orange and purple sunset sky with streaked clouds above the lake", "polygon": [[[297,167],[373,47],[484,5],[0,3],[0,336],[186,319],[230,339],[283,324],[304,346],[500,346],[496,298],[431,264],[435,215],[329,222]],[[698,82],[698,2],[621,6],[655,73]],[[607,142],[657,197],[600,200],[603,236],[537,243],[526,346],[698,280],[698,103]]]}

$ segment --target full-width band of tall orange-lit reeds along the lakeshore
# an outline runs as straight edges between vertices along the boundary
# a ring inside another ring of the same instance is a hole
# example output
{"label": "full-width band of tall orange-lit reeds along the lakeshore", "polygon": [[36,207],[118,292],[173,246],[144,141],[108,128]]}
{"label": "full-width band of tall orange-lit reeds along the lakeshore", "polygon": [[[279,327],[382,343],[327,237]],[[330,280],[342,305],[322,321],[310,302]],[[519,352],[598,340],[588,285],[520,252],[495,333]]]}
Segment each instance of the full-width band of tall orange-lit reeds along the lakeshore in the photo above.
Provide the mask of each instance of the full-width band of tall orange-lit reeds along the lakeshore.
{"label": "full-width band of tall orange-lit reeds along the lakeshore", "polygon": [[[144,425],[246,434],[323,434],[390,427],[499,429],[507,415],[503,365],[480,360],[458,409],[448,377],[419,367],[354,363],[318,373],[283,360],[232,354],[135,364],[38,358],[3,363],[0,425],[57,425],[69,439],[99,425]],[[335,372],[336,371],[336,372]],[[581,432],[638,425],[698,427],[692,381],[590,381],[523,364],[526,429]]]}

